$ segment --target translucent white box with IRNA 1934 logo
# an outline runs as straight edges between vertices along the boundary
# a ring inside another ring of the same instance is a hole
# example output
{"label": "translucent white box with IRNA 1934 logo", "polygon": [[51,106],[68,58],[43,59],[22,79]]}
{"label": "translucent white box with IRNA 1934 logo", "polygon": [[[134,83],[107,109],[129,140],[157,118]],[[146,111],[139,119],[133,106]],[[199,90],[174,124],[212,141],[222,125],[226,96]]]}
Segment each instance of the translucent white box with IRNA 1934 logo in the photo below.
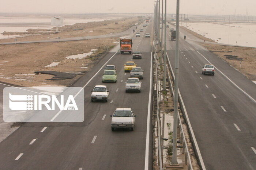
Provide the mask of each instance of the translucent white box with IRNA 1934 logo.
{"label": "translucent white box with IRNA 1934 logo", "polygon": [[84,89],[80,87],[5,87],[3,94],[5,122],[84,120]]}

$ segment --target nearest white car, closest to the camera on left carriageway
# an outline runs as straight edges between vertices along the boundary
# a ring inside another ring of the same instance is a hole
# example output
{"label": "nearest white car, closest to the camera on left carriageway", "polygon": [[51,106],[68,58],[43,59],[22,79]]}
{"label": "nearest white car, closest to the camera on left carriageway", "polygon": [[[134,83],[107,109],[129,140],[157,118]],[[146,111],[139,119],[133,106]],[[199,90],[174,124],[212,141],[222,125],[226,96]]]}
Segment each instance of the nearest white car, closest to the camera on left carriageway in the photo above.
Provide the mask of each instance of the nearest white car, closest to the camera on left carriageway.
{"label": "nearest white car, closest to the camera on left carriageway", "polygon": [[131,108],[117,108],[111,120],[111,130],[114,131],[116,128],[129,128],[134,130],[135,117],[134,112]]}

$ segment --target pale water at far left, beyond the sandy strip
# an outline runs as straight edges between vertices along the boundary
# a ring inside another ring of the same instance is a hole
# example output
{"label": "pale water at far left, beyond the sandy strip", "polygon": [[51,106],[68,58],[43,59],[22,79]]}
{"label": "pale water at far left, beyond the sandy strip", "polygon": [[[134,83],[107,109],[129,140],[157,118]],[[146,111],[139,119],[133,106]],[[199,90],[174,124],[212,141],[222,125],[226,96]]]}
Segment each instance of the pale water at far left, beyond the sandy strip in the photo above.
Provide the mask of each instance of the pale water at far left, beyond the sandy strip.
{"label": "pale water at far left, beyond the sandy strip", "polygon": [[[100,17],[100,18],[65,18],[63,25],[72,25],[75,23],[87,23],[87,22],[99,22],[103,20],[116,19],[120,17]],[[51,17],[17,17],[17,16],[0,16],[0,33],[4,31],[11,32],[25,32],[27,29],[33,28],[43,28],[50,29]],[[0,34],[0,39],[2,38],[12,38],[18,37],[18,35],[2,35]]]}

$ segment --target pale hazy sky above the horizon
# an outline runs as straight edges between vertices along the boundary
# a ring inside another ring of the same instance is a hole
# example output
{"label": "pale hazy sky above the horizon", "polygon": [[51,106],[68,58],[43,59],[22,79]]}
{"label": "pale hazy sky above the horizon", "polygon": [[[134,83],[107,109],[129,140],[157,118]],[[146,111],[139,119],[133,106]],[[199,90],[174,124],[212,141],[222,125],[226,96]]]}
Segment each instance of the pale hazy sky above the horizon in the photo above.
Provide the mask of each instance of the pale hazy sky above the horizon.
{"label": "pale hazy sky above the horizon", "polygon": [[[162,2],[162,0],[161,0]],[[112,13],[153,12],[154,0],[0,0],[0,12]],[[256,15],[256,0],[180,0],[180,13]],[[167,0],[167,13],[176,0]]]}

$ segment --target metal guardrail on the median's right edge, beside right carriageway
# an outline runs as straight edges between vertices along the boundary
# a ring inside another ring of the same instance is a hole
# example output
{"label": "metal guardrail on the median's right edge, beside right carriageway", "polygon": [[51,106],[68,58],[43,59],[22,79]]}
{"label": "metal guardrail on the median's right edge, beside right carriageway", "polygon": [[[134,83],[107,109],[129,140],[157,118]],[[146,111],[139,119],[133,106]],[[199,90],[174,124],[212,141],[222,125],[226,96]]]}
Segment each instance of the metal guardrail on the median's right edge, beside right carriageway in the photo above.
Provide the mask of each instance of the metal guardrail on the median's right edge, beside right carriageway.
{"label": "metal guardrail on the median's right edge, beside right carriageway", "polygon": [[[173,100],[174,100],[174,90],[173,90],[169,70],[172,73],[172,76],[173,76],[174,80],[175,80],[175,78],[174,78],[174,73],[173,73],[173,70],[172,70],[172,66],[170,64],[170,60],[169,60],[168,57],[166,57],[166,58],[168,60],[168,62],[167,62],[167,73],[168,73],[169,86],[172,90]],[[180,105],[182,105],[182,104],[180,103]],[[182,154],[185,153],[185,165],[188,165],[188,170],[193,170],[193,166],[192,166],[192,163],[191,163],[191,158],[190,158],[189,151],[188,151],[188,144],[186,142],[184,130],[183,130],[181,119],[180,119],[180,114],[178,114],[178,119],[179,119],[179,121],[178,121],[178,136],[180,138],[180,143],[182,143]]]}

